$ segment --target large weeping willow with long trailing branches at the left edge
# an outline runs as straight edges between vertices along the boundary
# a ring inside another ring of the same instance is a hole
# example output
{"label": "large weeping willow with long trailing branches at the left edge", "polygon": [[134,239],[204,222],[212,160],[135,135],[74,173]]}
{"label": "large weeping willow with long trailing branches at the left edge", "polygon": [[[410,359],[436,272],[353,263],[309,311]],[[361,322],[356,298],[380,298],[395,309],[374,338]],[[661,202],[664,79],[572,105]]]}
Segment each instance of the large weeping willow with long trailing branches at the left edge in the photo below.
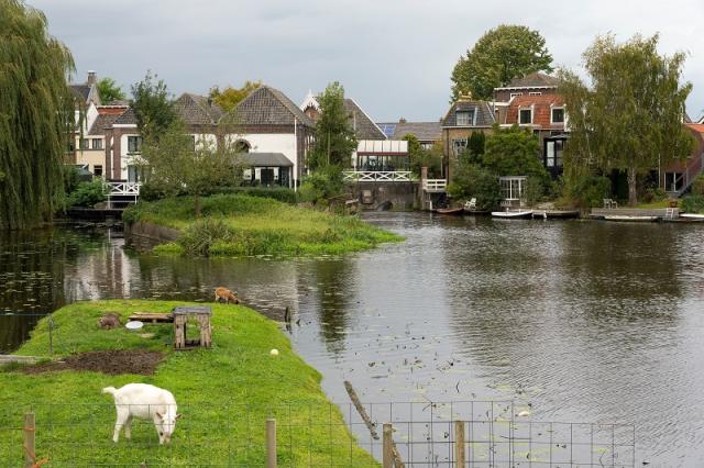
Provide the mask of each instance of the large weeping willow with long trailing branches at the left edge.
{"label": "large weeping willow with long trailing branches at the left edge", "polygon": [[58,208],[74,70],[42,12],[0,0],[0,229],[36,226]]}

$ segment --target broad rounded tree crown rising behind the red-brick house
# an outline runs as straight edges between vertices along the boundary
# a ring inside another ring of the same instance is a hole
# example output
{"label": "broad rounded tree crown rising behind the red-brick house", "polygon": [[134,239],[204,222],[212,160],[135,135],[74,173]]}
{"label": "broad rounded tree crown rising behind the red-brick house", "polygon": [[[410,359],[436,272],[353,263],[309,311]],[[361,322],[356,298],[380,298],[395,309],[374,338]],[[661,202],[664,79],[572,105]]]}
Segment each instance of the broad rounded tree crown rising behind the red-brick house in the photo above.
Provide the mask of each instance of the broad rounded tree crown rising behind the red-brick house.
{"label": "broad rounded tree crown rising behind the red-brick house", "polygon": [[552,56],[538,31],[502,24],[486,32],[452,70],[452,101],[491,99],[494,88],[535,71],[552,71]]}

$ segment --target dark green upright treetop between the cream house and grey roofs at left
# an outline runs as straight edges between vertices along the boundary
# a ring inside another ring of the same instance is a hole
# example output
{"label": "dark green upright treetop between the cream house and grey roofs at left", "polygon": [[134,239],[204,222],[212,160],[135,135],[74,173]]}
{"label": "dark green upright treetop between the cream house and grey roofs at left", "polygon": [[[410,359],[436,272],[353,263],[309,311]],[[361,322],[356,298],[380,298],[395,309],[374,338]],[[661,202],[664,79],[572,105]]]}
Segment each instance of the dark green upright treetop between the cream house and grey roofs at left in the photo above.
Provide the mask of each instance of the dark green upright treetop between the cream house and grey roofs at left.
{"label": "dark green upright treetop between the cream house and grey roofs at left", "polygon": [[130,104],[136,116],[136,126],[145,140],[158,140],[176,121],[174,101],[166,83],[151,71],[146,73],[142,81],[132,85]]}

